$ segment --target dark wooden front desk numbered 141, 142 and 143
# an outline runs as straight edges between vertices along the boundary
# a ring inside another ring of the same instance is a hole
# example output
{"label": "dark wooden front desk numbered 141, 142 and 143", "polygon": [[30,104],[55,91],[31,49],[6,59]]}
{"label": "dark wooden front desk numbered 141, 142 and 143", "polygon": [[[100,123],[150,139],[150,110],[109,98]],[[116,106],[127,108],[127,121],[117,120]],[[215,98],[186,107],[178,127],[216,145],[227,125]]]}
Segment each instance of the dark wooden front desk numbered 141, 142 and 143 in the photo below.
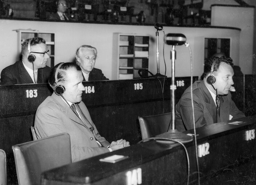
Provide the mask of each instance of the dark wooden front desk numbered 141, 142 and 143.
{"label": "dark wooden front desk numbered 141, 142 and 143", "polygon": [[[203,148],[198,149],[199,155],[203,154],[198,157],[201,184],[255,183],[255,118],[237,119],[245,122],[242,125],[222,122],[196,129],[198,148]],[[190,159],[190,184],[196,184],[194,142],[185,146]],[[129,158],[117,163],[99,161],[114,154]],[[50,170],[42,174],[42,184],[186,184],[187,165],[180,145],[150,141]]]}

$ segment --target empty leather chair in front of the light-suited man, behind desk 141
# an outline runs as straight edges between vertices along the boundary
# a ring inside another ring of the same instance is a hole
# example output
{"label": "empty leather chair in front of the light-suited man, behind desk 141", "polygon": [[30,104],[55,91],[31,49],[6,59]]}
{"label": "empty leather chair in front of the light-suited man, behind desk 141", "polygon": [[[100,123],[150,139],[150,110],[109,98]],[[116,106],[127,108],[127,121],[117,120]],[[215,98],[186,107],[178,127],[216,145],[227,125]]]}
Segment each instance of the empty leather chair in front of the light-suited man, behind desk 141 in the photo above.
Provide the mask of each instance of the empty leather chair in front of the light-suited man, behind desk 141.
{"label": "empty leather chair in front of the light-suited man, behind desk 141", "polygon": [[17,144],[12,150],[19,185],[39,185],[42,172],[72,163],[68,133]]}

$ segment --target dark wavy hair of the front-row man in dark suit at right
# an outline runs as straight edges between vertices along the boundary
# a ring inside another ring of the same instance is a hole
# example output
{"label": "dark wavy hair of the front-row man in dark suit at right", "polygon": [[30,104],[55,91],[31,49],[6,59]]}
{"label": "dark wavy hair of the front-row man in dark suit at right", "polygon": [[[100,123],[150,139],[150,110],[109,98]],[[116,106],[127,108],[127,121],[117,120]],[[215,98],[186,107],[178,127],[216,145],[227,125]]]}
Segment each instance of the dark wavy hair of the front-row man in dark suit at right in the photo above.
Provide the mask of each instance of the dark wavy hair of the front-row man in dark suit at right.
{"label": "dark wavy hair of the front-row man in dark suit at right", "polygon": [[214,70],[212,72],[213,75],[217,75],[219,67],[220,67],[220,64],[222,62],[230,65],[231,67],[233,67],[233,65],[234,65],[232,63],[233,60],[230,57],[225,57],[225,56],[217,57],[217,56],[214,56],[212,58],[208,58],[204,62],[204,73],[203,73],[201,79],[206,78],[208,76],[208,74],[211,73],[212,64],[214,63],[215,60],[216,60],[216,63],[214,65]]}

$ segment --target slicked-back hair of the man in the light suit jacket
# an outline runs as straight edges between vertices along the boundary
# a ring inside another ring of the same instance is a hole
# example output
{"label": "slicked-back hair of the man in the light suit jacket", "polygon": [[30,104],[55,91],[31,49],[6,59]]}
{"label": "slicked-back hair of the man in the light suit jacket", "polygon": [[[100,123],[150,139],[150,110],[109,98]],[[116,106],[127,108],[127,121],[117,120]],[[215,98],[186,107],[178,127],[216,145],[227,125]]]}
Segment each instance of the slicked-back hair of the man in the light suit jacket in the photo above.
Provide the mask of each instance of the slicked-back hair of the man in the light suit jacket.
{"label": "slicked-back hair of the man in the light suit jacket", "polygon": [[[61,63],[55,65],[51,71],[50,71],[50,76],[49,76],[49,80],[48,80],[48,84],[50,85],[50,87],[54,90],[57,86],[57,84],[55,83],[55,73],[57,70],[57,67],[60,65]],[[81,68],[73,62],[66,62],[64,64],[62,64],[62,66],[59,68],[58,70],[58,74],[57,74],[57,79],[58,79],[58,83],[65,83],[66,81],[68,81],[68,79],[66,79],[67,76],[67,71],[70,69],[74,69],[76,71],[82,71]]]}

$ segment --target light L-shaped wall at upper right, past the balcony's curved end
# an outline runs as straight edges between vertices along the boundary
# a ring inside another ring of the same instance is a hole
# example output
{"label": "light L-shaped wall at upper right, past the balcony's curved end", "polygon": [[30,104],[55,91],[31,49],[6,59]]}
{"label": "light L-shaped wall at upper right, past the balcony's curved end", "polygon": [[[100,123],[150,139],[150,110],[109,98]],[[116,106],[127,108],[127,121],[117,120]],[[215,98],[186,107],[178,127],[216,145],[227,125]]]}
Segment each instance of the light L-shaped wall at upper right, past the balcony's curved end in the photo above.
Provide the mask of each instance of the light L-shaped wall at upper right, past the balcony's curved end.
{"label": "light L-shaped wall at upper right, past the balcony's curved end", "polygon": [[229,26],[241,29],[239,66],[244,74],[252,74],[253,72],[254,10],[254,7],[227,6],[212,6],[211,10],[212,26]]}

